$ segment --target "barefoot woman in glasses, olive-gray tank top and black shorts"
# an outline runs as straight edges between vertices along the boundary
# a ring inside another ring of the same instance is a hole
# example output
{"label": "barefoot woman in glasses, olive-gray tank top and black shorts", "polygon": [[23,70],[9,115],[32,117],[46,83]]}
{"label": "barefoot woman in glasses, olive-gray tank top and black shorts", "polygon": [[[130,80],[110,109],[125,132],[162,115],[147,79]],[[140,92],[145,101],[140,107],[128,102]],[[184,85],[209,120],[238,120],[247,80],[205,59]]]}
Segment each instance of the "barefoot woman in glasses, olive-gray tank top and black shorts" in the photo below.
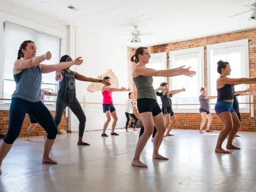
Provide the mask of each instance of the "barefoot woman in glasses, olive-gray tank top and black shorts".
{"label": "barefoot woman in glasses, olive-gray tank top and black shorts", "polygon": [[153,133],[154,125],[156,126],[157,133],[154,138],[153,158],[168,160],[168,158],[163,157],[158,153],[158,149],[163,141],[165,125],[164,116],[156,101],[156,93],[153,87],[153,76],[172,77],[187,75],[191,77],[196,74],[195,71],[189,70],[190,67],[184,68],[184,66],[167,70],[147,69],[146,64],[149,62],[149,58],[150,54],[147,47],[139,47],[131,58],[132,62],[138,64],[133,69],[132,77],[137,87],[137,107],[145,129],[138,140],[132,161],[132,165],[138,167],[147,167],[146,164],[140,161],[140,154],[150,138],[150,135]]}

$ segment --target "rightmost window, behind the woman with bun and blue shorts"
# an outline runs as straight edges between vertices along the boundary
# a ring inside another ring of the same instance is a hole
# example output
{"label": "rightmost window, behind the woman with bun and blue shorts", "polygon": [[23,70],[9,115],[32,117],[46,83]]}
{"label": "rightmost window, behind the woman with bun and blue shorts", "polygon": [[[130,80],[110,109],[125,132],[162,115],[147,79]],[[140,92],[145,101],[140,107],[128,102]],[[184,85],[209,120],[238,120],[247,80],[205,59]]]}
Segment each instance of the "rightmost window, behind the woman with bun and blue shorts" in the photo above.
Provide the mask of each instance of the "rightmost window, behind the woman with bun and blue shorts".
{"label": "rightmost window, behind the woman with bun and blue shorts", "polygon": [[[248,39],[233,42],[218,43],[207,46],[207,87],[209,95],[217,95],[216,81],[220,74],[217,72],[217,62],[228,61],[231,67],[230,78],[249,77]],[[249,85],[235,86],[235,91],[246,90]],[[249,97],[237,97],[239,102],[249,102]],[[210,100],[215,103],[217,100]],[[247,105],[239,105],[246,108]],[[213,108],[214,105],[211,105]]]}

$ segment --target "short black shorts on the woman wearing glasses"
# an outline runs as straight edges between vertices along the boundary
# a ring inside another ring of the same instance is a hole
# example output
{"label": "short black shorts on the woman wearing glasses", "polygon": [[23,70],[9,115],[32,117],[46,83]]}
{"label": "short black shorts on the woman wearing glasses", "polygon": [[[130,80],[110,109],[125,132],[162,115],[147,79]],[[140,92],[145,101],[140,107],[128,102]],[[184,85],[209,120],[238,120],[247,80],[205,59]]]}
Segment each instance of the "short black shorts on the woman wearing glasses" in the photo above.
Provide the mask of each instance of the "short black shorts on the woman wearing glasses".
{"label": "short black shorts on the woman wearing glasses", "polygon": [[155,99],[142,98],[137,100],[137,107],[140,113],[152,112],[153,116],[162,112]]}

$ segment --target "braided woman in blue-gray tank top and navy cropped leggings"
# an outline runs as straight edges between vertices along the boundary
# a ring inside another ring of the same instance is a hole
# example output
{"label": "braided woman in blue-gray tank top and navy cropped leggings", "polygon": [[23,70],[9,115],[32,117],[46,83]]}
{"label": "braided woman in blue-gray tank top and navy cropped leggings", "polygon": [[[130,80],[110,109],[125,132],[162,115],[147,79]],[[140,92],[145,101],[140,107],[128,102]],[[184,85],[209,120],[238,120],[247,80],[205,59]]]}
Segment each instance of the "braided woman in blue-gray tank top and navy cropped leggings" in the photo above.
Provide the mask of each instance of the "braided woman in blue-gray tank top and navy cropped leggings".
{"label": "braided woman in blue-gray tank top and navy cropped leggings", "polygon": [[42,73],[51,73],[71,65],[81,65],[83,60],[77,58],[75,61],[63,62],[57,65],[44,65],[41,62],[50,60],[51,52],[47,51],[39,57],[35,56],[36,45],[33,41],[25,41],[20,45],[18,58],[13,66],[16,89],[12,95],[10,106],[9,129],[0,146],[0,174],[2,174],[2,161],[20,134],[26,113],[33,115],[47,132],[42,163],[57,164],[49,157],[56,138],[57,126],[50,111],[41,102]]}

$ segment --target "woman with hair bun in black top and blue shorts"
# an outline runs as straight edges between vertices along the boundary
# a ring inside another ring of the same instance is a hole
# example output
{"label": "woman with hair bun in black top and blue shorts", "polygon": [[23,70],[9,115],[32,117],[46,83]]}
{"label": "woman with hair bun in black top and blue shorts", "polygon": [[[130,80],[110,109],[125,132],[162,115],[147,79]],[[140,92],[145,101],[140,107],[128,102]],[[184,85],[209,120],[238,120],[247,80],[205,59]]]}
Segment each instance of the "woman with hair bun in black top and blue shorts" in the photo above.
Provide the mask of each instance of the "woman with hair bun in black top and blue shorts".
{"label": "woman with hair bun in black top and blue shorts", "polygon": [[217,71],[220,77],[217,79],[217,103],[215,105],[215,112],[220,117],[224,129],[220,132],[217,145],[215,148],[216,153],[229,154],[229,151],[222,149],[222,143],[229,134],[227,149],[240,149],[232,144],[233,139],[240,127],[239,119],[233,109],[234,101],[234,85],[256,83],[256,78],[228,78],[230,75],[230,65],[225,61],[218,61]]}

